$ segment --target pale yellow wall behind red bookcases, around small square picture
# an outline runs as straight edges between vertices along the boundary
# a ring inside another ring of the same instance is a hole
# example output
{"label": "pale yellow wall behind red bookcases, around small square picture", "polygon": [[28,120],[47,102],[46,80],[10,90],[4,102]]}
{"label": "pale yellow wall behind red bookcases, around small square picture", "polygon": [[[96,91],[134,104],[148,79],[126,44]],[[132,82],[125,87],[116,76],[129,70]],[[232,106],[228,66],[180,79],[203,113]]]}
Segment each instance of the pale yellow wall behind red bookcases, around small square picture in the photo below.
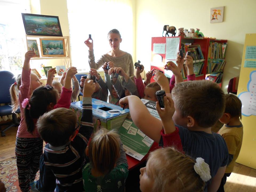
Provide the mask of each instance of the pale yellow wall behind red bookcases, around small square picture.
{"label": "pale yellow wall behind red bookcases, around small square picture", "polygon": [[[146,70],[150,65],[151,37],[161,37],[164,25],[199,28],[207,37],[228,40],[222,85],[227,90],[229,80],[240,72],[245,34],[256,31],[256,1],[139,0],[136,3],[136,60],[146,65]],[[225,6],[223,22],[210,23],[210,9],[220,6]]]}

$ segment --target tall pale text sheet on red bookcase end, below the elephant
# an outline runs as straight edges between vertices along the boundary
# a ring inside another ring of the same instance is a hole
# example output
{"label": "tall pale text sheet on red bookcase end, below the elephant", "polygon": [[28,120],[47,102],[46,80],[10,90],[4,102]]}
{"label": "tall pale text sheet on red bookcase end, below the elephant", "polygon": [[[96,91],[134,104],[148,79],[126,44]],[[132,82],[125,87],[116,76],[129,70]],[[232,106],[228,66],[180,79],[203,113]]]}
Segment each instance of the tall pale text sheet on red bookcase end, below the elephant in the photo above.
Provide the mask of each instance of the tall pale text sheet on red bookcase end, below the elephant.
{"label": "tall pale text sheet on red bookcase end, below the elephant", "polygon": [[180,38],[166,38],[166,59],[175,60],[179,51]]}

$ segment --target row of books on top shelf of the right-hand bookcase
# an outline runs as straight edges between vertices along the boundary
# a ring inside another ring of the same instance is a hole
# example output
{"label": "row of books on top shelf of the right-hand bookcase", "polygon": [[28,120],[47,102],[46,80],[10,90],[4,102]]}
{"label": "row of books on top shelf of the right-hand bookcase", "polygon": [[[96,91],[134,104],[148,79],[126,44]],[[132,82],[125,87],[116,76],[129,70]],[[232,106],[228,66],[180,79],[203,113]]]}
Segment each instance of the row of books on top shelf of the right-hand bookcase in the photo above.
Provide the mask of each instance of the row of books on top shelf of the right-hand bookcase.
{"label": "row of books on top shelf of the right-hand bookcase", "polygon": [[224,59],[226,54],[227,43],[210,42],[208,58]]}

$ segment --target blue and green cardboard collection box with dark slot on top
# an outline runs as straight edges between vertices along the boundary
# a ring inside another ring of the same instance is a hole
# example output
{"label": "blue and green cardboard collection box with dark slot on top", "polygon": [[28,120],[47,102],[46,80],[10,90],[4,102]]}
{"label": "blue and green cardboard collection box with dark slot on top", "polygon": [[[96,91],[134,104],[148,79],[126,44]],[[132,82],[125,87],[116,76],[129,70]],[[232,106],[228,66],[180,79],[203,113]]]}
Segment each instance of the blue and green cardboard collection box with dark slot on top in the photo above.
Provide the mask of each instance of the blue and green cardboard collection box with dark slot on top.
{"label": "blue and green cardboard collection box with dark slot on top", "polygon": [[[120,106],[94,98],[92,98],[92,105],[94,131],[101,129],[102,127],[108,130],[119,129],[129,113],[129,109],[123,110]],[[70,109],[77,114],[78,124],[80,125],[82,117],[82,101],[71,103]]]}

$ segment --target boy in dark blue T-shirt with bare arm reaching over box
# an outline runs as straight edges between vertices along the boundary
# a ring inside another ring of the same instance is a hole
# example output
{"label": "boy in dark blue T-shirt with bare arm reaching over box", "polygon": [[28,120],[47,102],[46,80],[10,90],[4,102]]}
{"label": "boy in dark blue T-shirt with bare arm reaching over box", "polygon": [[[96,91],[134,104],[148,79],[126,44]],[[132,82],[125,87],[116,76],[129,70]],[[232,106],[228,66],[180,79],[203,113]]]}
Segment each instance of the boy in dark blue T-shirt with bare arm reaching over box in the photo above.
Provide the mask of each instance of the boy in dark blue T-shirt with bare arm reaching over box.
{"label": "boy in dark blue T-shirt with bare arm reaching over box", "polygon": [[209,165],[211,181],[207,188],[217,191],[229,157],[224,139],[211,132],[211,126],[224,112],[224,93],[217,83],[201,80],[178,83],[171,95],[173,100],[164,97],[164,109],[157,103],[162,121],[153,117],[140,99],[132,95],[122,98],[120,106],[129,107],[134,124],[159,145],[172,145],[171,136],[178,134],[183,151],[194,158],[202,157]]}

